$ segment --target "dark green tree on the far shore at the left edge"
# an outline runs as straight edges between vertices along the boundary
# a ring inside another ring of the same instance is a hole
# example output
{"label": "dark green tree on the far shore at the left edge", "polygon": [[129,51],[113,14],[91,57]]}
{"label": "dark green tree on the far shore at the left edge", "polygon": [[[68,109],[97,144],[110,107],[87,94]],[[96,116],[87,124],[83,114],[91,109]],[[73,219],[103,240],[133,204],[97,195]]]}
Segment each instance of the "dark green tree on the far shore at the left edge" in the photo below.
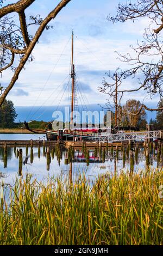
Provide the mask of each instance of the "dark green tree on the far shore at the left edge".
{"label": "dark green tree on the far shore at the left edge", "polygon": [[4,100],[0,108],[0,127],[11,128],[14,126],[14,120],[17,117],[14,104],[11,100]]}

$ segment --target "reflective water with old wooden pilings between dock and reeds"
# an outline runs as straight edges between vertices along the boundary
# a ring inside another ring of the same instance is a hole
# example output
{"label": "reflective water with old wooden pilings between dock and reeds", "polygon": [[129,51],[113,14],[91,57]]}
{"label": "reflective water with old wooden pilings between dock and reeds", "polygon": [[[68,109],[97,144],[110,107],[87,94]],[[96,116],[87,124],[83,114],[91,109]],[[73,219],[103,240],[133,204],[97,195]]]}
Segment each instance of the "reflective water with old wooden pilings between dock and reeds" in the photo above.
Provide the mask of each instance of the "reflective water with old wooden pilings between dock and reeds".
{"label": "reflective water with old wooden pilings between dock and reeds", "polygon": [[31,173],[38,180],[45,179],[48,175],[64,176],[72,181],[79,173],[84,172],[86,177],[98,176],[106,172],[118,172],[122,168],[134,172],[139,168],[149,166],[162,167],[160,150],[129,147],[121,150],[101,147],[94,150],[74,150],[72,147],[65,149],[55,147],[7,147],[0,148],[0,172],[7,173],[7,182],[15,178],[15,174]]}

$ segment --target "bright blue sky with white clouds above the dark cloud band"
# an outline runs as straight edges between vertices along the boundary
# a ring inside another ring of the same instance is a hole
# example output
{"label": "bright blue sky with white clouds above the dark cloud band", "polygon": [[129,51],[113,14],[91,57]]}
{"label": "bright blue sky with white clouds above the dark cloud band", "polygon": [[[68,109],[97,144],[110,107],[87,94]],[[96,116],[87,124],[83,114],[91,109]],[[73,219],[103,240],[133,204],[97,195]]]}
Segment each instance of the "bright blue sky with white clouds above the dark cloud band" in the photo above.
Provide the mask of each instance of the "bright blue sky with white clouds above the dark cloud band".
{"label": "bright blue sky with white clouds above the dark cloud band", "polygon": [[[14,2],[14,1],[6,1]],[[16,1],[15,1],[16,2]],[[26,10],[27,16],[40,14],[45,17],[59,1],[36,0]],[[74,60],[78,86],[86,103],[104,105],[107,95],[98,92],[105,72],[115,70],[124,63],[117,59],[115,51],[130,52],[130,45],[142,40],[148,20],[112,24],[106,20],[116,13],[118,2],[126,0],[72,0],[50,25],[54,29],[43,32],[36,45],[34,61],[26,64],[18,81],[8,95],[15,106],[66,105],[68,99],[68,75],[70,74],[71,33],[74,29]],[[31,33],[34,32],[34,28]],[[11,72],[4,72],[1,82],[7,85]],[[123,87],[133,88],[137,81],[125,81]],[[67,86],[67,87],[66,87]],[[65,92],[65,93],[64,93]],[[127,99],[144,100],[142,92],[126,94]],[[78,99],[80,104],[80,99]],[[82,100],[81,100],[82,101]],[[156,99],[153,99],[155,104]],[[145,99],[147,105],[151,101]]]}

